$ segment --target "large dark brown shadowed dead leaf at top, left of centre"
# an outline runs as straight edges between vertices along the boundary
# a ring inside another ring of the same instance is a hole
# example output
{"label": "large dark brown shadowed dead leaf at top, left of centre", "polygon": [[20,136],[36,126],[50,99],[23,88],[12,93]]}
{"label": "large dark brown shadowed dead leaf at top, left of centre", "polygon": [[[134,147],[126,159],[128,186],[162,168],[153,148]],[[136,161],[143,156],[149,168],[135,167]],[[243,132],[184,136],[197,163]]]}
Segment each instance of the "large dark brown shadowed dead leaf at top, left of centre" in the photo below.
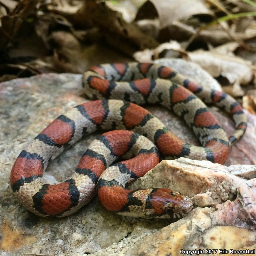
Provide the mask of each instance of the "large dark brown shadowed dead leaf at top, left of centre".
{"label": "large dark brown shadowed dead leaf at top, left of centre", "polygon": [[99,28],[105,45],[109,44],[129,56],[135,51],[159,45],[137,26],[127,23],[119,12],[111,10],[105,2],[87,0],[75,16],[80,28]]}

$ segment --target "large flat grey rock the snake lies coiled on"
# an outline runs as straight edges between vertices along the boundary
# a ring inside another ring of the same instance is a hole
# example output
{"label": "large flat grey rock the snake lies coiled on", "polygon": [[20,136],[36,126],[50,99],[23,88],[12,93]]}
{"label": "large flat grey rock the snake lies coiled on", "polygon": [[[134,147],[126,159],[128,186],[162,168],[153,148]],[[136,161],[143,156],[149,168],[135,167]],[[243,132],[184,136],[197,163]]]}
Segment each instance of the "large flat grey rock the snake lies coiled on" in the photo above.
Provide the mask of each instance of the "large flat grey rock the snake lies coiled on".
{"label": "large flat grey rock the snake lies coiled on", "polygon": [[[81,75],[47,74],[0,84],[0,255],[21,255],[22,252],[137,255],[144,250],[141,249],[146,246],[143,243],[148,243],[144,239],[154,233],[161,234],[161,229],[172,223],[171,220],[130,219],[112,214],[101,206],[97,197],[71,216],[44,219],[28,212],[14,198],[9,185],[10,171],[22,148],[54,118],[85,101]],[[184,122],[168,110],[159,106],[147,108],[180,138],[199,145]],[[230,134],[232,121],[213,112]],[[249,129],[244,139],[231,149],[228,165],[256,163],[255,123],[256,118],[249,115]],[[89,143],[98,135],[87,136],[67,149],[49,165],[44,178],[53,183],[55,179],[60,182],[69,177]]]}

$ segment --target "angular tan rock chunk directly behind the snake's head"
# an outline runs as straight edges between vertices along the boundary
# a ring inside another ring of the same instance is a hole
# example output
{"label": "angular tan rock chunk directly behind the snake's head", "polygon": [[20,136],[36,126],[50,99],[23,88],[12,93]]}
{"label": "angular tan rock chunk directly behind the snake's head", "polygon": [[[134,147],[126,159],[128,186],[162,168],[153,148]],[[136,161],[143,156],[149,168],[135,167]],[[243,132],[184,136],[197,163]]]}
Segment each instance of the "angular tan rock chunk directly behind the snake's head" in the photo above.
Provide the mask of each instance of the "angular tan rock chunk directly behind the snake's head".
{"label": "angular tan rock chunk directly behind the snake's head", "polygon": [[[207,192],[208,195],[211,193],[212,200],[210,200],[210,204],[217,205],[228,199],[233,199],[236,196],[239,184],[246,181],[225,172],[226,169],[221,164],[183,157],[176,160],[162,160],[129,188],[170,188],[189,197],[197,194],[202,197],[201,194]],[[198,198],[196,201],[198,201]]]}

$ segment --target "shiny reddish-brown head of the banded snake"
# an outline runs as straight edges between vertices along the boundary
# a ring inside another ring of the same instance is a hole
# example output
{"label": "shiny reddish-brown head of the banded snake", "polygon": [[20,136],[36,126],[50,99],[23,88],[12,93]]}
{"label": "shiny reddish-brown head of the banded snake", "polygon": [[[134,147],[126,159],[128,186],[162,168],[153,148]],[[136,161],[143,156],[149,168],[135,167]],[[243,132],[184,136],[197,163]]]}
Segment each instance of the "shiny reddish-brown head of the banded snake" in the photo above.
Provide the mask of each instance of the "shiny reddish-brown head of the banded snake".
{"label": "shiny reddish-brown head of the banded snake", "polygon": [[151,205],[155,214],[166,218],[181,218],[187,215],[193,208],[193,202],[187,196],[181,196],[167,188],[157,188],[151,193]]}

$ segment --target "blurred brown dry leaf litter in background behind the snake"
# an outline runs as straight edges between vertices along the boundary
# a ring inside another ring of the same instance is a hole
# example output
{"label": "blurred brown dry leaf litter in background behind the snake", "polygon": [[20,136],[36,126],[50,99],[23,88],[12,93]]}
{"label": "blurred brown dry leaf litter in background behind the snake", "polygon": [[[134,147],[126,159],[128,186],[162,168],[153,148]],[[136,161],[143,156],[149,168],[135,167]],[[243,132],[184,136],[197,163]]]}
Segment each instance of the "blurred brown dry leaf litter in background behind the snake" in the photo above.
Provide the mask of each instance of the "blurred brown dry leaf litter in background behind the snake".
{"label": "blurred brown dry leaf litter in background behind the snake", "polygon": [[255,114],[254,12],[250,0],[0,0],[0,81],[182,58]]}

